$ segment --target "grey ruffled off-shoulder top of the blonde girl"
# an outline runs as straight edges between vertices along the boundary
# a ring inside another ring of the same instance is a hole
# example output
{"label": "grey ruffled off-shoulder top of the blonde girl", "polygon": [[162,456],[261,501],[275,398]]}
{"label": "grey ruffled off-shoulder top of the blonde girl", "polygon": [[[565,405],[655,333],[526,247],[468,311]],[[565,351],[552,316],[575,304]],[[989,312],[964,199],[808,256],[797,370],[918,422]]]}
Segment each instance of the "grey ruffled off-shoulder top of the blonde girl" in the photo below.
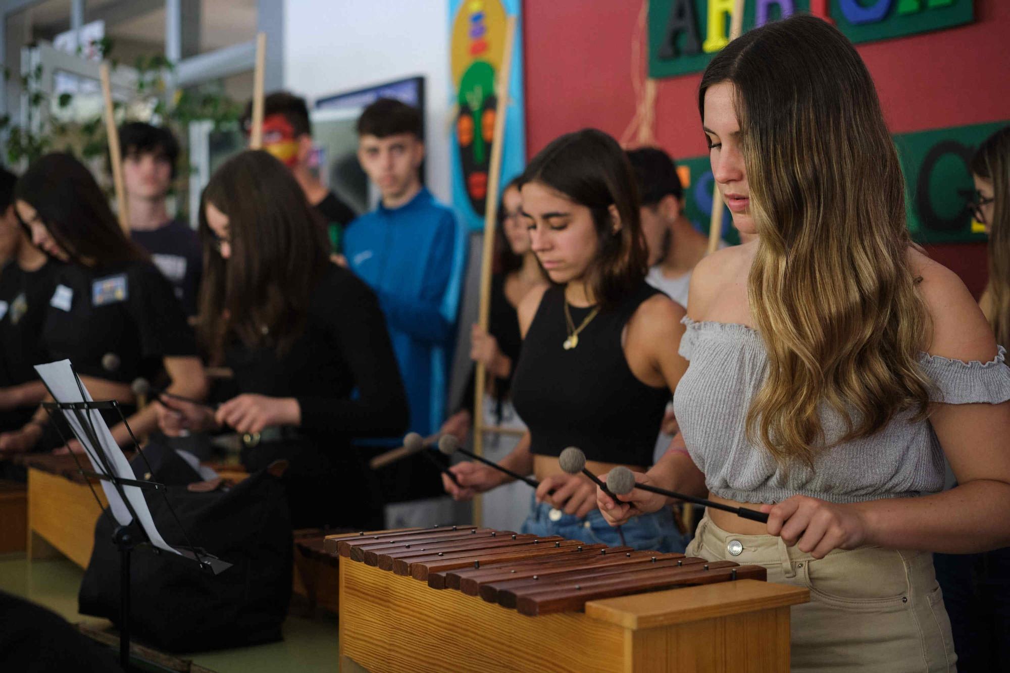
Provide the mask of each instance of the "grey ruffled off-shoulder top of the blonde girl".
{"label": "grey ruffled off-shoulder top of the blonde girl", "polygon": [[[781,502],[793,495],[858,502],[943,487],[939,441],[928,420],[911,420],[911,410],[896,414],[871,437],[822,450],[813,469],[801,462],[783,469],[746,437],[747,410],[768,366],[761,335],[742,324],[683,322],[687,331],[680,354],[690,364],[674,394],[674,407],[691,458],[712,493],[740,502]],[[935,384],[934,401],[997,404],[1010,399],[1004,354],[1000,347],[996,358],[983,364],[923,353],[919,363]],[[829,444],[841,437],[842,418],[826,409],[821,419]]]}

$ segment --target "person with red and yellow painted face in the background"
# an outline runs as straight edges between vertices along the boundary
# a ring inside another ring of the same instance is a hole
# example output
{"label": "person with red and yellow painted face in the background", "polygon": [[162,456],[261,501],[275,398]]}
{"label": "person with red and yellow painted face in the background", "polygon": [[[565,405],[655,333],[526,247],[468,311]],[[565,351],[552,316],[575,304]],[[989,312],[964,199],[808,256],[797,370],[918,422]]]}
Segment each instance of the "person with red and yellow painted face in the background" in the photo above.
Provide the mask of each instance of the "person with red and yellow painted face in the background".
{"label": "person with red and yellow painted face in the background", "polygon": [[[242,128],[249,132],[252,104],[245,106]],[[264,100],[263,149],[274,155],[295,176],[298,186],[305,193],[309,205],[321,217],[329,238],[330,252],[341,250],[343,228],[358,214],[341,201],[332,190],[327,190],[312,172],[312,122],[305,99],[277,91]]]}

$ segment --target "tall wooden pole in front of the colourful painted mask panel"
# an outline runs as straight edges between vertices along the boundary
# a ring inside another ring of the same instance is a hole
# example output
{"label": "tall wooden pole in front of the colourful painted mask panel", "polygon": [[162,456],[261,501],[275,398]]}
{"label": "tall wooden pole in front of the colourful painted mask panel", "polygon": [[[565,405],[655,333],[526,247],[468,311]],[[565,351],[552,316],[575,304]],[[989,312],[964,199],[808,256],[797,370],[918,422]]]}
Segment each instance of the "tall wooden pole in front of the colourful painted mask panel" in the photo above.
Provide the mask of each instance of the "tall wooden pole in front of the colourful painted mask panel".
{"label": "tall wooden pole in front of the colourful painted mask panel", "polygon": [[[491,321],[491,267],[495,251],[495,225],[498,219],[498,183],[501,179],[502,146],[505,139],[505,113],[508,111],[509,75],[512,71],[512,43],[515,41],[515,16],[509,16],[505,26],[505,52],[498,70],[498,104],[495,106],[495,128],[491,140],[491,161],[488,167],[488,194],[484,206],[484,249],[481,254],[481,302],[478,324],[486,332]],[[487,371],[478,362],[474,384],[474,453],[484,454],[484,389]],[[474,502],[474,521],[481,522],[480,499]]]}

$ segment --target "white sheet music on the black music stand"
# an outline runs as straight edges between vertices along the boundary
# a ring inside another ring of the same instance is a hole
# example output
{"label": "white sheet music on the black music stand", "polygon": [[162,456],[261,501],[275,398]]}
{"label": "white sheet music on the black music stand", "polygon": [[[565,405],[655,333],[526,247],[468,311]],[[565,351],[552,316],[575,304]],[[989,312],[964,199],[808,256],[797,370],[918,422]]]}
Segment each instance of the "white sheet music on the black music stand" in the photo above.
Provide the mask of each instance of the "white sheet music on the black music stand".
{"label": "white sheet music on the black music stand", "polygon": [[[35,371],[38,372],[38,376],[41,377],[49,392],[53,393],[56,401],[65,403],[94,401],[83,384],[78,387],[77,374],[74,373],[70,360],[61,360],[60,362],[53,362],[47,365],[35,365]],[[81,390],[84,390],[86,399],[81,398]],[[136,479],[133,470],[129,466],[129,462],[126,460],[126,456],[123,455],[122,450],[116,444],[112,432],[109,430],[109,426],[105,423],[105,419],[102,418],[98,409],[88,409],[85,413],[90,416],[91,424],[94,426],[95,435],[98,437],[98,442],[101,445],[100,447],[91,446],[88,435],[81,427],[81,423],[75,414],[66,413],[64,417],[70,422],[74,435],[81,443],[81,446],[84,447],[84,453],[87,454],[88,460],[91,461],[94,471],[98,474],[105,474],[104,464],[97,454],[97,451],[102,451],[114,473],[110,476],[119,477],[120,479]],[[101,482],[102,490],[105,491],[105,497],[108,499],[109,507],[112,509],[112,515],[115,516],[116,521],[120,525],[128,524],[133,520],[133,517],[130,515],[126,503],[119,497],[119,491],[116,490],[116,487],[111,482],[105,479],[102,479]],[[136,486],[123,486],[122,489],[130,505],[133,507],[133,511],[136,512],[140,526],[147,534],[147,538],[155,547],[163,549],[166,552],[178,554],[179,556],[190,556],[192,558],[191,554],[180,552],[162,538],[162,535],[155,526],[155,519],[150,515],[150,509],[147,508],[147,501],[144,500],[143,491],[140,488]]]}

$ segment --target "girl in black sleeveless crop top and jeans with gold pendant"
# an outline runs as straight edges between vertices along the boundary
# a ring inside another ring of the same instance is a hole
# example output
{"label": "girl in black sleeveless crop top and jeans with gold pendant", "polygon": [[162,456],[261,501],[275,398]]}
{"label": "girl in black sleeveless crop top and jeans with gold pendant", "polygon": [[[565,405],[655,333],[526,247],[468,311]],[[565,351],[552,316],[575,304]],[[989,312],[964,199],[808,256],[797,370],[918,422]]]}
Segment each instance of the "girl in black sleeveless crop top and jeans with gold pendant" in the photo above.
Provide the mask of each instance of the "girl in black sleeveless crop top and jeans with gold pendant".
{"label": "girl in black sleeveless crop top and jeans with gold pendant", "polygon": [[[539,482],[525,533],[623,544],[596,508],[594,483],[566,473],[559,457],[578,447],[596,474],[651,464],[664,408],[687,368],[676,350],[684,309],[645,283],[634,177],[612,137],[584,129],[557,138],[530,162],[521,194],[532,250],[553,285],[519,304],[512,398],[529,431],[500,463]],[[451,470],[463,488],[442,484],[459,500],[506,481],[483,464]],[[622,534],[637,549],[683,550],[669,508]]]}

